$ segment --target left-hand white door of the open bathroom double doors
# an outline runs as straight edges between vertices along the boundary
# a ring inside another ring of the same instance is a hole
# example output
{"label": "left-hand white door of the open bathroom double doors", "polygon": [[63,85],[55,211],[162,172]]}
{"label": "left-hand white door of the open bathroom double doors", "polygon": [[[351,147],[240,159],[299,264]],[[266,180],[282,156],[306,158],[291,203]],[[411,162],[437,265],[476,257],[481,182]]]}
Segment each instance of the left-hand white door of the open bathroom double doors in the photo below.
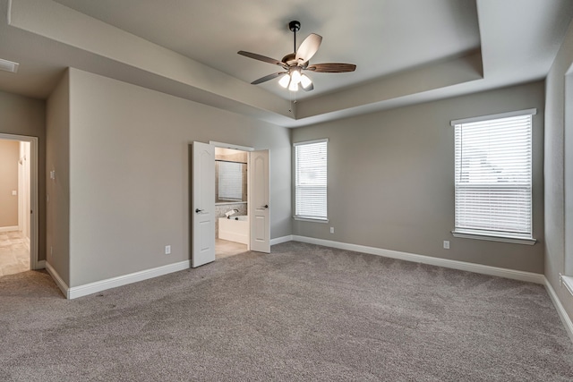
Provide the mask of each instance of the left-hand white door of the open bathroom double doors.
{"label": "left-hand white door of the open bathroom double doors", "polygon": [[192,267],[215,261],[215,147],[192,145]]}

